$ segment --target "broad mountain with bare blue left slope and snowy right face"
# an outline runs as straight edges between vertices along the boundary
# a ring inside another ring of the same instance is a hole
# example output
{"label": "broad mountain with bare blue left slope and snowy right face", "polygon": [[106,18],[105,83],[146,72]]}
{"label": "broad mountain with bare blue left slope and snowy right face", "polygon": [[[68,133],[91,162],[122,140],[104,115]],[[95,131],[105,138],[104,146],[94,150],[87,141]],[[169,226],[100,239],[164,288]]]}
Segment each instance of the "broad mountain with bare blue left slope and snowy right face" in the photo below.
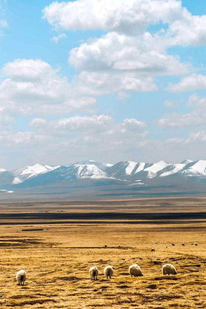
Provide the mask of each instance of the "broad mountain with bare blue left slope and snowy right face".
{"label": "broad mountain with bare blue left slope and snowy right face", "polygon": [[81,179],[115,180],[115,178],[111,177],[109,174],[94,164],[73,164],[70,166],[62,165],[48,173],[39,174],[36,177],[27,179],[22,185],[37,186],[50,183],[62,183],[70,181],[75,182],[76,180]]}

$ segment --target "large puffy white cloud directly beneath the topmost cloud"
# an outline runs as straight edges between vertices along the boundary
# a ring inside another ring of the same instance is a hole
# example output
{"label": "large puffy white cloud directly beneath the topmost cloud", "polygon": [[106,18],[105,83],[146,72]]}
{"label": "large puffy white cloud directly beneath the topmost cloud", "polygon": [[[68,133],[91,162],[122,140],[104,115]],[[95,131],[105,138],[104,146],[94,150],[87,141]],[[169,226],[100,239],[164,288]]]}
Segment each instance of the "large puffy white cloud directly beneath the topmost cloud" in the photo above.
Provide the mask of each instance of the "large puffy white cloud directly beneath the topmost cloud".
{"label": "large puffy white cloud directly beneath the topmost cloud", "polygon": [[83,71],[134,71],[141,75],[186,74],[189,64],[167,55],[159,38],[149,32],[129,37],[109,32],[70,51],[69,62]]}

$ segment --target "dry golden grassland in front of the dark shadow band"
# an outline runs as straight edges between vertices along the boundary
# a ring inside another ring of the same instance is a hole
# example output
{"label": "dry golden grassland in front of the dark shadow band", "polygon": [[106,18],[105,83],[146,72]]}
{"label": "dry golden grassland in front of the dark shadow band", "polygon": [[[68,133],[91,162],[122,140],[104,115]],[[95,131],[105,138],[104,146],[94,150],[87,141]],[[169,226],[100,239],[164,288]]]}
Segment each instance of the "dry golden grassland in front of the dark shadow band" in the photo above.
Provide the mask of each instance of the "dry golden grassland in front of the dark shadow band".
{"label": "dry golden grassland in front of the dark shadow band", "polygon": [[[111,222],[1,225],[1,308],[206,307],[204,220]],[[129,276],[128,268],[134,262],[144,277]],[[174,264],[176,276],[161,274],[166,262]],[[111,280],[103,276],[108,264],[115,267]],[[89,277],[93,265],[99,268],[97,281]],[[15,279],[21,268],[27,272],[25,286],[17,286]]]}

